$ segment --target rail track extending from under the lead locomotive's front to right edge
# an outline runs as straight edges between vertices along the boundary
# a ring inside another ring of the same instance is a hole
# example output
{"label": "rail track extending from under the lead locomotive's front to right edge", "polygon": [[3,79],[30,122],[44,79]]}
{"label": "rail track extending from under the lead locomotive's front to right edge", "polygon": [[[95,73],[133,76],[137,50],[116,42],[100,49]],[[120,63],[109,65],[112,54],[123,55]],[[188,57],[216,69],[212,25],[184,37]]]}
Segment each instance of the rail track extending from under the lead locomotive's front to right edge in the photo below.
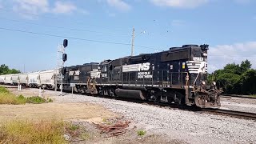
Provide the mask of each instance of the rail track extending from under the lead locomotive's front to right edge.
{"label": "rail track extending from under the lead locomotive's front to right edge", "polygon": [[246,118],[256,120],[256,113],[223,109],[202,109],[202,111],[209,112],[210,114],[228,115],[230,117],[235,118]]}

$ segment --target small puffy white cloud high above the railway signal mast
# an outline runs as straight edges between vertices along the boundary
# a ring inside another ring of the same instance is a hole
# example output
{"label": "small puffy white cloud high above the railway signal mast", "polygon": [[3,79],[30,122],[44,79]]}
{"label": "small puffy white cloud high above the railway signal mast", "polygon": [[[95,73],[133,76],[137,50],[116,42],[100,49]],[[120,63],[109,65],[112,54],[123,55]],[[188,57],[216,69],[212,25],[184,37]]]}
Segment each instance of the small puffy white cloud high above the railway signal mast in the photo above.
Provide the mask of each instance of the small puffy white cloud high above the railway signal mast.
{"label": "small puffy white cloud high above the railway signal mast", "polygon": [[77,10],[77,7],[70,2],[55,2],[55,6],[52,10],[55,14],[69,14],[74,10]]}

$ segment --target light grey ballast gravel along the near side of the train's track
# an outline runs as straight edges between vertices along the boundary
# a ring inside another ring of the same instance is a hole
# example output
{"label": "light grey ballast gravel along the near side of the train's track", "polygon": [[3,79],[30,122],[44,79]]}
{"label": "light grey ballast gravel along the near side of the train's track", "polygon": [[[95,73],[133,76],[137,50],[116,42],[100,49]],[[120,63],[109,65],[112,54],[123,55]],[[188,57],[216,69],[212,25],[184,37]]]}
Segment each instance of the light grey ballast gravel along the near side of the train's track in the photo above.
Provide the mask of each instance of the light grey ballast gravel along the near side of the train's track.
{"label": "light grey ballast gravel along the near side of the train's track", "polygon": [[109,98],[66,94],[55,102],[93,102],[138,123],[151,134],[187,143],[256,143],[256,122],[222,115],[173,110]]}

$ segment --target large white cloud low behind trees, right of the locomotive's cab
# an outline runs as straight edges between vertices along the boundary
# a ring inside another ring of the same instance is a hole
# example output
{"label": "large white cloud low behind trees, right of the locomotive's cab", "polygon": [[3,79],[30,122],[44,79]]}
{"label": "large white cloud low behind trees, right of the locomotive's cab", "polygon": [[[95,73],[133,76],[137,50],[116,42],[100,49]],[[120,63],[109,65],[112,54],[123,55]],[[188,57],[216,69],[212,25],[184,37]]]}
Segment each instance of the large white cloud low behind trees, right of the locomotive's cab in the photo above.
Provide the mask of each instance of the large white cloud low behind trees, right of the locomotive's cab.
{"label": "large white cloud low behind trees, right of the locomotive's cab", "polygon": [[222,69],[227,63],[240,64],[246,59],[252,63],[253,68],[256,68],[256,41],[210,47],[208,55],[210,73]]}

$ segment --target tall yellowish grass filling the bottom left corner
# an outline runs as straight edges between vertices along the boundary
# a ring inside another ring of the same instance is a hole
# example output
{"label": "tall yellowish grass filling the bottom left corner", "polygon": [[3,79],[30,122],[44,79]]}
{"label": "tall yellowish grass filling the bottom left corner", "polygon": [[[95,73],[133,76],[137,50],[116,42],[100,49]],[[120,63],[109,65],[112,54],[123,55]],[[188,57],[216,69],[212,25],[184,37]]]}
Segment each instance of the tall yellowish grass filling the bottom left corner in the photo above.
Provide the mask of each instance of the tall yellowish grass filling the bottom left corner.
{"label": "tall yellowish grass filling the bottom left corner", "polygon": [[67,143],[64,122],[5,122],[0,126],[0,143]]}

